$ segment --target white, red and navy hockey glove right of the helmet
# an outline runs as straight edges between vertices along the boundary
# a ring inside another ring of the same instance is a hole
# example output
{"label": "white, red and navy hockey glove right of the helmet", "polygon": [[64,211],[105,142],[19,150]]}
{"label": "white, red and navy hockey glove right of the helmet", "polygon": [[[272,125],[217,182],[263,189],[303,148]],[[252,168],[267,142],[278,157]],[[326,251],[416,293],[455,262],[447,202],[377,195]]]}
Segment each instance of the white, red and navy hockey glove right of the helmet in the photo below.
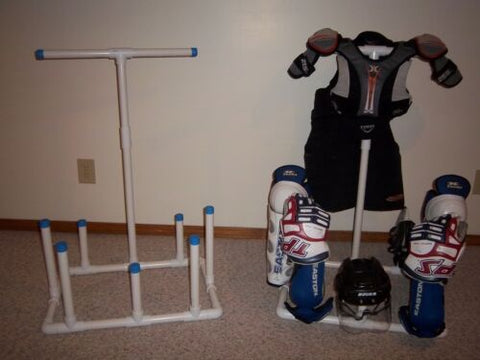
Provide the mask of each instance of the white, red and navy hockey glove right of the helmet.
{"label": "white, red and navy hockey glove right of the helmet", "polygon": [[412,279],[440,282],[451,278],[465,250],[466,223],[451,215],[414,226],[402,270]]}

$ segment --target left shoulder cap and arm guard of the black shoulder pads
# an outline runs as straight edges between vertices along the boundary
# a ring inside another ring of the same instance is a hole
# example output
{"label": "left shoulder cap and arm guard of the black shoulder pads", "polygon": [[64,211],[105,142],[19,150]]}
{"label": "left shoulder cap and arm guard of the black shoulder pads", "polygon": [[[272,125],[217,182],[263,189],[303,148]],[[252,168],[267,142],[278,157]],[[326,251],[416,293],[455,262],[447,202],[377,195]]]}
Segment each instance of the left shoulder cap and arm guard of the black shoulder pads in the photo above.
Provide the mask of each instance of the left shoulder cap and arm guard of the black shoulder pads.
{"label": "left shoulder cap and arm guard of the black shoulder pads", "polygon": [[332,29],[322,29],[310,36],[307,50],[298,55],[288,68],[288,74],[294,78],[308,77],[315,71],[315,63],[320,56],[329,56],[335,52],[341,36]]}

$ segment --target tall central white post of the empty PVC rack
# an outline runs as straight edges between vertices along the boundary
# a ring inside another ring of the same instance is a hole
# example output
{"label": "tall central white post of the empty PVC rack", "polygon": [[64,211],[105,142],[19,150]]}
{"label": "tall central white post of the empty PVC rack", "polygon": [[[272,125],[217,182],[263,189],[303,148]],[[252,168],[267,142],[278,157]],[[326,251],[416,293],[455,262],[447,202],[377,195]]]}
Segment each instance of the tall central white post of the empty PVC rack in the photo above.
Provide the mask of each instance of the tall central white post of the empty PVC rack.
{"label": "tall central white post of the empty PVC rack", "polygon": [[130,124],[128,121],[128,93],[126,62],[122,55],[115,57],[117,67],[118,106],[120,109],[120,142],[123,157],[123,179],[125,187],[125,208],[127,216],[128,246],[130,263],[138,261],[137,239],[135,231],[135,200],[133,190],[133,166],[131,154]]}

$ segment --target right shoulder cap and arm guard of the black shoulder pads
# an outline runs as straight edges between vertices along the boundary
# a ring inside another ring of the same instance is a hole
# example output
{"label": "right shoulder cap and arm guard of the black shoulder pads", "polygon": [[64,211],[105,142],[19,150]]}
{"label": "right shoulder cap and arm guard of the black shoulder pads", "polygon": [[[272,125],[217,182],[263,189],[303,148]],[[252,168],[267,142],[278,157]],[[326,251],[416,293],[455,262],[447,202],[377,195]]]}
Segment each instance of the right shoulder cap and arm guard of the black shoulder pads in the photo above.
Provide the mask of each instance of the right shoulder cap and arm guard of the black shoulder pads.
{"label": "right shoulder cap and arm guard of the black shoulder pads", "polygon": [[423,34],[413,39],[417,55],[430,63],[432,80],[447,88],[454,87],[462,80],[457,65],[447,58],[448,49],[435,35]]}

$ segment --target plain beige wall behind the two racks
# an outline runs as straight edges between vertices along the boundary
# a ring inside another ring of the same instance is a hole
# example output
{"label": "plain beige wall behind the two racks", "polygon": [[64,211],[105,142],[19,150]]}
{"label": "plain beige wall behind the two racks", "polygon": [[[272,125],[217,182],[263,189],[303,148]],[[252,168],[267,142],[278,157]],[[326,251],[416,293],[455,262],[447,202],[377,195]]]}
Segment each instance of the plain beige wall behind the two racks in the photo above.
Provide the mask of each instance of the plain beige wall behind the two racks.
{"label": "plain beige wall behind the two racks", "polygon": [[[416,60],[414,103],[393,122],[407,205],[418,220],[441,174],[480,169],[480,2],[477,0],[9,0],[0,2],[0,218],[124,221],[115,68],[109,60],[35,61],[37,48],[191,47],[195,59],[128,63],[139,223],[201,223],[206,204],[223,226],[266,226],[271,172],[303,164],[314,90],[290,62],[317,29],[347,37],[376,30],[396,40],[439,36],[464,80],[446,90]],[[94,158],[97,184],[78,184],[76,159]],[[468,199],[480,234],[479,195]],[[388,231],[397,212],[365,214]],[[333,214],[350,230],[353,210]]]}

